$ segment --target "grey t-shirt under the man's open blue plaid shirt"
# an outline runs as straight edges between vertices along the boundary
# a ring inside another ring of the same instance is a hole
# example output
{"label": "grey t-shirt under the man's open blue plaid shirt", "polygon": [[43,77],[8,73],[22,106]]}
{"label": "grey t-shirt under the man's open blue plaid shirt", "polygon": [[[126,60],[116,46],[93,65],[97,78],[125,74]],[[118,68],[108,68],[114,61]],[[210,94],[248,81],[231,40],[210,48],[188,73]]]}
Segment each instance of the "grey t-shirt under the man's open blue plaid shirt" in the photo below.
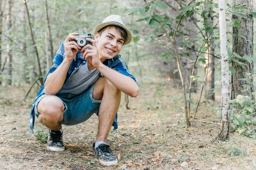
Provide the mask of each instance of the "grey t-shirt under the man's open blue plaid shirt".
{"label": "grey t-shirt under the man's open blue plaid shirt", "polygon": [[88,70],[87,62],[73,73],[58,93],[81,94],[99,78],[99,71]]}

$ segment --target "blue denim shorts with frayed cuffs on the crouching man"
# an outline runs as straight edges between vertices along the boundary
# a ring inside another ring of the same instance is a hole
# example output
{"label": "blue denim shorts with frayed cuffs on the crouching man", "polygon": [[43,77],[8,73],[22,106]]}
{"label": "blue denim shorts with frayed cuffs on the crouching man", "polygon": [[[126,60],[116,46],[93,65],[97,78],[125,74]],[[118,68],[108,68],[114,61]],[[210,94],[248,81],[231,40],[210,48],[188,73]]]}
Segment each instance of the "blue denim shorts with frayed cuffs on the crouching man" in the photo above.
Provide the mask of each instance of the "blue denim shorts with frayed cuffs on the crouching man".
{"label": "blue denim shorts with frayed cuffs on the crouching man", "polygon": [[99,110],[101,100],[93,99],[94,84],[81,94],[55,94],[40,96],[35,101],[35,115],[38,117],[38,103],[45,96],[57,96],[64,104],[62,125],[76,125],[90,118]]}

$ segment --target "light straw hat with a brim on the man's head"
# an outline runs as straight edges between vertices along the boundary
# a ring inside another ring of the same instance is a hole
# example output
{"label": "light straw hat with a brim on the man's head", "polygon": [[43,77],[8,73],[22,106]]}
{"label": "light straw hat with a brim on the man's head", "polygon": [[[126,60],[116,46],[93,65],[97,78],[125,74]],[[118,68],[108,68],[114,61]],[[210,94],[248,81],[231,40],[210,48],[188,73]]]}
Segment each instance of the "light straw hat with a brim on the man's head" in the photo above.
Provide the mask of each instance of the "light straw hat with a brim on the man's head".
{"label": "light straw hat with a brim on the man's head", "polygon": [[126,40],[125,40],[123,45],[128,44],[129,42],[131,42],[131,32],[125,27],[124,19],[121,16],[119,16],[119,15],[110,15],[110,16],[106,17],[102,21],[101,24],[99,24],[98,26],[96,26],[93,29],[93,34],[95,35],[103,27],[109,26],[109,25],[120,26],[120,27],[124,28],[124,30],[127,32],[127,38],[126,38]]}

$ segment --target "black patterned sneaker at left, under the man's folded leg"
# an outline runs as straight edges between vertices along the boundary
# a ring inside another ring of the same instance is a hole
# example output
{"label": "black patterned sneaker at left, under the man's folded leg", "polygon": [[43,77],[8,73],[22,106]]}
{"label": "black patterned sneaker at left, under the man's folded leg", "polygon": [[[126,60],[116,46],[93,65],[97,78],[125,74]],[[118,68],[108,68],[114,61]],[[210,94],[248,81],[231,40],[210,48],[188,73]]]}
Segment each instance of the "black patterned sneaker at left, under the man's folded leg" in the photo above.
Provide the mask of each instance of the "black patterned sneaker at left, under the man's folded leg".
{"label": "black patterned sneaker at left, under the man's folded leg", "polygon": [[62,152],[65,150],[62,141],[62,132],[57,130],[50,130],[48,134],[47,150]]}

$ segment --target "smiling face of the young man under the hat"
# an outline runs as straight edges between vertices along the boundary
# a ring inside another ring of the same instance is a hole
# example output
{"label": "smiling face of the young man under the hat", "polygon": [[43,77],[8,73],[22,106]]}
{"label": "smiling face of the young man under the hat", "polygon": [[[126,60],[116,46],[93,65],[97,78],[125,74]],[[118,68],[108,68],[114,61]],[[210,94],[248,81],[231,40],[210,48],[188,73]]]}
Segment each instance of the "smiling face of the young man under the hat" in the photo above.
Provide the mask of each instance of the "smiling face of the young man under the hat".
{"label": "smiling face of the young man under the hat", "polygon": [[125,40],[115,27],[108,27],[101,32],[101,35],[99,32],[95,34],[95,41],[99,58],[104,62],[106,59],[112,59],[119,54]]}

